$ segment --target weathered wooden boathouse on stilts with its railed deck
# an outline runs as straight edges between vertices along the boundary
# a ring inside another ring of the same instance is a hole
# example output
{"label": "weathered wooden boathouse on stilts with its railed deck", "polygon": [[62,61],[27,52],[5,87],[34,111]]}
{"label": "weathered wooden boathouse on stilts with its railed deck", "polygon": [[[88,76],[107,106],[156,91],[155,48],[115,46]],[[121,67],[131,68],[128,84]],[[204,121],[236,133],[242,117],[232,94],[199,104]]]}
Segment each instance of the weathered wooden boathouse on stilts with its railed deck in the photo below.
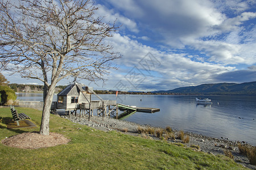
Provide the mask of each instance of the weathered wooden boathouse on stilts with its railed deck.
{"label": "weathered wooden boathouse on stilts with its railed deck", "polygon": [[[99,100],[92,100],[92,95],[96,95]],[[69,84],[63,91],[57,94],[57,101],[51,106],[52,112],[56,109],[65,109],[65,113],[70,114],[79,110],[79,117],[89,114],[93,116],[93,109],[97,109],[97,115],[104,118],[107,115],[118,117],[118,105],[116,100],[103,100],[98,96],[92,87],[84,84]]]}

